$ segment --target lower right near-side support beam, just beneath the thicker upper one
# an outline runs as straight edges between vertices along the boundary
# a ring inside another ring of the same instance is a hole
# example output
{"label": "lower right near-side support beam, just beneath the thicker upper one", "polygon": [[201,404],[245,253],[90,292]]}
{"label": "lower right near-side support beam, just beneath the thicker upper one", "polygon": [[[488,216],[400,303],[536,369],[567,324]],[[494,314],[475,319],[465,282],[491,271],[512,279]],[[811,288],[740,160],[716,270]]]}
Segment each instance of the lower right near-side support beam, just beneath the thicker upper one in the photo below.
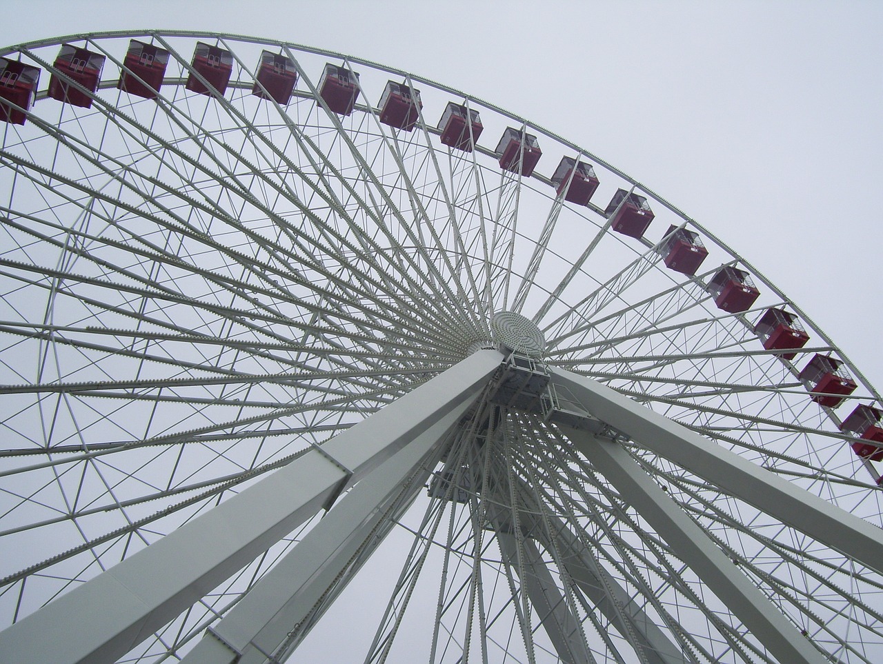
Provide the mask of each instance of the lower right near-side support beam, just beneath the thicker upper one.
{"label": "lower right near-side support beam, just beneath the thicker upper one", "polygon": [[713,540],[617,442],[567,426],[562,430],[605,479],[668,542],[675,554],[781,662],[825,664],[826,658],[730,562]]}

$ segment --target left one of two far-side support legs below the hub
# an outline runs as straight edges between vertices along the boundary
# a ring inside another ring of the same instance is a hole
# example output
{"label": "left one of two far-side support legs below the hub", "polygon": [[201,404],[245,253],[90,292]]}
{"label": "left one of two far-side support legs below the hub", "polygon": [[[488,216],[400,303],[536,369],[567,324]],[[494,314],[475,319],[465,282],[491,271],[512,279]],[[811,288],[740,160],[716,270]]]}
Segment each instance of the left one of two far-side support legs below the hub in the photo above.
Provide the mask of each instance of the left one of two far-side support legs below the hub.
{"label": "left one of two far-side support legs below the hub", "polygon": [[[498,530],[496,539],[505,562],[513,570],[517,570],[518,543],[515,535]],[[524,541],[522,560],[525,578],[519,579],[522,592],[526,592],[530,598],[531,606],[540,618],[558,657],[566,664],[588,664],[592,661],[592,656],[586,649],[577,618],[570,612],[567,601],[555,585],[555,579],[543,562],[540,549],[532,540]]]}

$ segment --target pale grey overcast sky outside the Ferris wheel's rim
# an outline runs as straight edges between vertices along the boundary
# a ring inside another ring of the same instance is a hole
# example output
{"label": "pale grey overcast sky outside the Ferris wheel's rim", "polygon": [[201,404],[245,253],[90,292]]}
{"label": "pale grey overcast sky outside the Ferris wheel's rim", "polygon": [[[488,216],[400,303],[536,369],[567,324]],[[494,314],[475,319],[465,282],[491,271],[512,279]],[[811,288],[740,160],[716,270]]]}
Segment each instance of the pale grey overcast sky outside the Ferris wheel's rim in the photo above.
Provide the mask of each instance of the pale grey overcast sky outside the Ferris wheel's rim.
{"label": "pale grey overcast sky outside the Ferris wheel's rim", "polygon": [[883,388],[883,3],[4,7],[3,44],[127,27],[253,34],[391,64],[493,102],[713,230]]}

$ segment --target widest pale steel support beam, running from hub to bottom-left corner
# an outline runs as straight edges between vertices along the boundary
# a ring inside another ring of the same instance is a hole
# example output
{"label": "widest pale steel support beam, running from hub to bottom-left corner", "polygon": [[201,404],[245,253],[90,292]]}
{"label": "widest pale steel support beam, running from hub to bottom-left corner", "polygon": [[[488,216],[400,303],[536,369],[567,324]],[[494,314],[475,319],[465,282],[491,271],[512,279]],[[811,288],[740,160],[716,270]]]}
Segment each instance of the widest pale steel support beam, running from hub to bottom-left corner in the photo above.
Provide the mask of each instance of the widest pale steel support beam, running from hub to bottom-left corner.
{"label": "widest pale steel support beam, running from hub to bottom-left corner", "polygon": [[474,353],[11,625],[0,632],[0,653],[57,664],[119,659],[426,428],[471,403],[501,361],[496,351]]}

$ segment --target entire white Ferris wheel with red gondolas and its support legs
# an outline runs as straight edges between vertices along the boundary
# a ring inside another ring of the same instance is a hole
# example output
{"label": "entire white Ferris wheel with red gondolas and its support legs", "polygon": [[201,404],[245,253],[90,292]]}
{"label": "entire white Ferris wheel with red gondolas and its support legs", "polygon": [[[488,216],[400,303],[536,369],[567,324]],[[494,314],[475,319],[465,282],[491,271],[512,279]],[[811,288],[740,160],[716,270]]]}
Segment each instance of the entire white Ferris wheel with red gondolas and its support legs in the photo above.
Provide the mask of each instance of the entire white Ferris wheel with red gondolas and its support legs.
{"label": "entire white Ferris wheel with red gondolas and its support legs", "polygon": [[287,42],[0,55],[0,653],[883,660],[883,402],[650,188]]}

